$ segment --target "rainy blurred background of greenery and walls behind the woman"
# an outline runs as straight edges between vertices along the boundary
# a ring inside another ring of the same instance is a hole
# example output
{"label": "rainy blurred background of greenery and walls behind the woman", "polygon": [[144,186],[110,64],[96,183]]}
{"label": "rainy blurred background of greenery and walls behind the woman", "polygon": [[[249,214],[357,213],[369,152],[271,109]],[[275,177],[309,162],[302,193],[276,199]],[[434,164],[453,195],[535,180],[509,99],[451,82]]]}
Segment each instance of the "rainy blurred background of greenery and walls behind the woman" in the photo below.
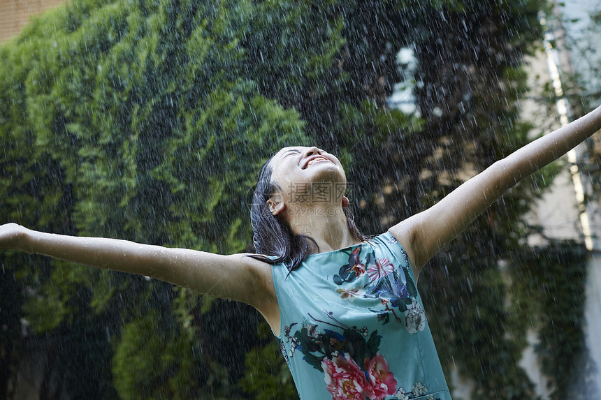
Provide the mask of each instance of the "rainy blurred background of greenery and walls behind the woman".
{"label": "rainy blurred background of greenery and walls behind the woman", "polygon": [[[311,144],[375,235],[598,106],[599,38],[599,0],[0,0],[0,222],[252,251],[261,164]],[[600,155],[523,179],[421,274],[454,399],[601,398]],[[250,306],[0,265],[0,398],[298,398]]]}

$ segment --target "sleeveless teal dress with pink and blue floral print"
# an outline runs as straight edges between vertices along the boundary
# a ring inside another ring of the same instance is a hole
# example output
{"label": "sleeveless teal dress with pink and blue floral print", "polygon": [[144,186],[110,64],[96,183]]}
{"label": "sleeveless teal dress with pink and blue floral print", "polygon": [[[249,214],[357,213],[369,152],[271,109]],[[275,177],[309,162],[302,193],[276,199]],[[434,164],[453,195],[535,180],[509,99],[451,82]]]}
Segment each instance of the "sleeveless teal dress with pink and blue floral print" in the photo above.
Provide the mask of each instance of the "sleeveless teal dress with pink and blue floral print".
{"label": "sleeveless teal dress with pink and blue floral print", "polygon": [[301,399],[451,399],[407,253],[390,232],[272,272]]}

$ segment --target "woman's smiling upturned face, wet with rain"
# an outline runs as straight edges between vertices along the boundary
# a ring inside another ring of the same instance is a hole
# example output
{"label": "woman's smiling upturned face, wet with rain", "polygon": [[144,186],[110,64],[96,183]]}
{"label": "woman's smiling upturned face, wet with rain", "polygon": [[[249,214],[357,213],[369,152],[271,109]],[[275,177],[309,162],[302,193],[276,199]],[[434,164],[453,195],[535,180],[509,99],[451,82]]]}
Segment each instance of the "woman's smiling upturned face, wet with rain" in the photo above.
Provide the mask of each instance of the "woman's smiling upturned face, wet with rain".
{"label": "woman's smiling upturned face, wet with rain", "polygon": [[[294,195],[313,190],[344,193],[347,177],[342,164],[333,154],[317,147],[284,147],[270,161],[271,179],[284,192],[284,199],[294,201]],[[337,190],[338,189],[338,190]],[[338,201],[338,199],[333,199]]]}

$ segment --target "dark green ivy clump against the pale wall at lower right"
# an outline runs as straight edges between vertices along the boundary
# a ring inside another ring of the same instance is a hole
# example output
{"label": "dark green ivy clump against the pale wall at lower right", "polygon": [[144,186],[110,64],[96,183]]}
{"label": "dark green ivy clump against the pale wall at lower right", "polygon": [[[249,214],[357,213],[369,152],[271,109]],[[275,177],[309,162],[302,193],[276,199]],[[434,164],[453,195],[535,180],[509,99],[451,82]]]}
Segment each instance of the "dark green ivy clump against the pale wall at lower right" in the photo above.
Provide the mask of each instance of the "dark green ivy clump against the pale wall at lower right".
{"label": "dark green ivy clump against the pale wall at lower right", "polygon": [[512,265],[520,278],[514,312],[540,329],[536,351],[551,399],[593,399],[597,393],[598,383],[591,381],[597,367],[582,330],[587,258],[581,244],[556,242],[544,253],[536,248],[521,253]]}

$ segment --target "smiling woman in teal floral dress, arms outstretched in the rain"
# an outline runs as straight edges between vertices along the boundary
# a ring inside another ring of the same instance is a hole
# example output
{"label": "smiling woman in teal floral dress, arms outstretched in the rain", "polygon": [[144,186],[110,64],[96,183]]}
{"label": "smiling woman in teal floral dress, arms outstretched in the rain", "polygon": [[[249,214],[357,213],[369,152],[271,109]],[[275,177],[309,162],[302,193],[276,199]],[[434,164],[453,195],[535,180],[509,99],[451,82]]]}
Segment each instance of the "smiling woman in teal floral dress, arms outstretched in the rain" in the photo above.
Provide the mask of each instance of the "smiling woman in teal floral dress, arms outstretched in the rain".
{"label": "smiling woman in teal floral dress, arms outstretched in the rain", "polygon": [[448,400],[417,276],[521,178],[601,128],[601,107],[535,140],[430,209],[365,239],[338,158],[287,147],[261,170],[252,205],[258,254],[218,255],[118,239],[0,227],[0,249],[144,274],[246,302],[280,338],[302,399]]}

